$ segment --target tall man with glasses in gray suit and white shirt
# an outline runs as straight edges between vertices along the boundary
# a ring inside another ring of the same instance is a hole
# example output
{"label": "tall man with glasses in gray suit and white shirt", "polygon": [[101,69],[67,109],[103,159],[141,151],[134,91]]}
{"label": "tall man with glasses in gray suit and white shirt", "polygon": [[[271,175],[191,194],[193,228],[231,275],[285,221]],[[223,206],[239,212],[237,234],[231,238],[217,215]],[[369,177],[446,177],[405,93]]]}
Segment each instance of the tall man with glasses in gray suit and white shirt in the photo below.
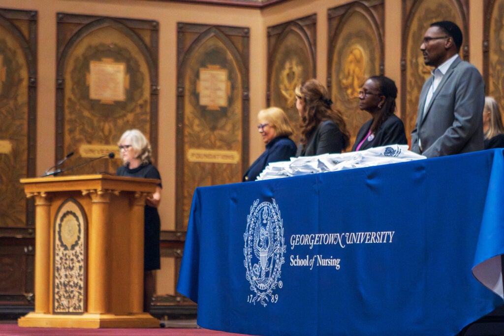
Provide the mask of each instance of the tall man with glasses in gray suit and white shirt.
{"label": "tall man with glasses in gray suit and white shirt", "polygon": [[453,22],[430,25],[420,50],[435,67],[423,84],[411,150],[427,157],[483,149],[485,84],[478,69],[459,57],[462,32]]}

